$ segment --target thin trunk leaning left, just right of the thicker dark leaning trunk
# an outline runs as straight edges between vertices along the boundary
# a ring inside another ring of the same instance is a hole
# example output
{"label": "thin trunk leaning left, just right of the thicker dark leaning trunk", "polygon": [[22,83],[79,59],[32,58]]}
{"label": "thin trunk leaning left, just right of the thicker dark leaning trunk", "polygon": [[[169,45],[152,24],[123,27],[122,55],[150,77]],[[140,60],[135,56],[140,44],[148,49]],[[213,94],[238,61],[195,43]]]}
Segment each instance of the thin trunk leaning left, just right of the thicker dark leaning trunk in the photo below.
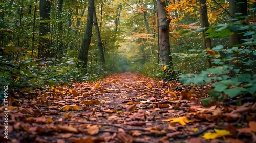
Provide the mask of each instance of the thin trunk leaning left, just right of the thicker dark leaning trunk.
{"label": "thin trunk leaning left, just right of the thicker dark leaning trunk", "polygon": [[99,54],[100,54],[100,62],[104,65],[105,64],[105,57],[104,57],[104,51],[103,51],[103,43],[100,37],[100,30],[99,30],[99,25],[97,21],[97,16],[96,16],[96,10],[94,8],[93,10],[93,23],[96,31],[96,36],[97,36],[97,41],[98,41],[98,47],[99,47]]}

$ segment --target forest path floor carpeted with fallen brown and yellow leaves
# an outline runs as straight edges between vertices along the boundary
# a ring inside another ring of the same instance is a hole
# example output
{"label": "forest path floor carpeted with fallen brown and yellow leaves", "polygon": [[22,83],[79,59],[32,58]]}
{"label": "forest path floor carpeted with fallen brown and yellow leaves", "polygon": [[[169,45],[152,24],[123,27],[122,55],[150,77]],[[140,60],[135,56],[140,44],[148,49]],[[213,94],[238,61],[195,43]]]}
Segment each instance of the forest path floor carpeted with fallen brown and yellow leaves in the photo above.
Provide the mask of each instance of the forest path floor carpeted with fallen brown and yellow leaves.
{"label": "forest path floor carpeted with fallen brown and yellow leaves", "polygon": [[72,87],[14,91],[8,108],[0,107],[0,138],[58,143],[255,142],[256,104],[236,106],[234,100],[212,102],[206,108],[200,99],[209,89],[210,85],[182,86],[121,73]]}

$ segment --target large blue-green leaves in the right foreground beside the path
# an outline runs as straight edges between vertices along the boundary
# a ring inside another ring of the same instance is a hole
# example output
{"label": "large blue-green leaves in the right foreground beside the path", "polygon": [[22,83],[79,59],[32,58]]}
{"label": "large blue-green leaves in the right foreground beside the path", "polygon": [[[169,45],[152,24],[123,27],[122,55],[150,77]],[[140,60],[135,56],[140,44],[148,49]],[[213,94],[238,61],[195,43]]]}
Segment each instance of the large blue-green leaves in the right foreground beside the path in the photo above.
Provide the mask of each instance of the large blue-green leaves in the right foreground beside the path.
{"label": "large blue-green leaves in the right foreground beside the path", "polygon": [[[218,45],[212,48],[216,54],[207,54],[204,50],[190,50],[190,52],[196,52],[191,57],[197,57],[198,55],[211,57],[215,66],[201,71],[200,74],[182,74],[179,76],[180,82],[186,85],[191,83],[198,84],[198,86],[213,83],[212,87],[214,89],[208,92],[211,97],[201,100],[204,105],[211,100],[223,102],[226,97],[232,99],[245,94],[256,96],[256,35],[253,31],[255,28],[255,24],[242,25],[241,21],[209,28],[207,37],[229,36],[234,31],[244,30],[243,36],[247,36],[247,38],[242,39],[244,43],[241,45],[229,48]],[[195,31],[198,32],[200,30]],[[173,55],[178,58],[186,58],[191,54],[174,53]]]}

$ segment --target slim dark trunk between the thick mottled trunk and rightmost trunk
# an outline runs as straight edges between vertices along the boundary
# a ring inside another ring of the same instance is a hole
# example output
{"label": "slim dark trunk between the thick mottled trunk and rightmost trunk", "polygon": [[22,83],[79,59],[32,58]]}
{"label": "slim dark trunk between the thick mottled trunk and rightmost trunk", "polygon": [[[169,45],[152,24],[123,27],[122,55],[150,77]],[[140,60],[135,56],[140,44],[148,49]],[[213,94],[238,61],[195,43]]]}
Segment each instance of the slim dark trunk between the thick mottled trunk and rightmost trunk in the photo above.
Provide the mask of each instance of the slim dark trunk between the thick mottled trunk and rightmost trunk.
{"label": "slim dark trunk between the thick mottled trunk and rightmost trunk", "polygon": [[[209,27],[209,21],[208,21],[208,16],[207,16],[207,5],[206,5],[206,0],[199,0],[199,11],[200,11],[200,22],[201,22],[201,27]],[[208,29],[208,28],[207,28]],[[205,31],[202,31],[202,37],[203,37],[203,42],[204,42],[204,49],[211,49],[211,38],[205,38]],[[209,67],[212,67],[211,59],[208,57],[209,61]]]}

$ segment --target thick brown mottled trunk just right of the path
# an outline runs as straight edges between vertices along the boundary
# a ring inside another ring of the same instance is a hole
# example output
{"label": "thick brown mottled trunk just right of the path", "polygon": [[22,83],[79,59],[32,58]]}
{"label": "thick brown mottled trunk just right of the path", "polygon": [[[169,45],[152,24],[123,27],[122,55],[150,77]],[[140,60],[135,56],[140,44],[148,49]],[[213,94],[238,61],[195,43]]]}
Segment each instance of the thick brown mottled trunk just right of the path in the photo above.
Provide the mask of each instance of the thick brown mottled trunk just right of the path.
{"label": "thick brown mottled trunk just right of the path", "polygon": [[166,6],[165,2],[161,2],[161,0],[157,0],[157,12],[158,12],[158,23],[159,23],[159,33],[158,33],[158,46],[159,53],[161,58],[162,65],[172,65],[172,57],[170,56],[170,40],[169,40],[169,23],[170,20],[167,21],[166,14],[167,12],[164,10]]}

